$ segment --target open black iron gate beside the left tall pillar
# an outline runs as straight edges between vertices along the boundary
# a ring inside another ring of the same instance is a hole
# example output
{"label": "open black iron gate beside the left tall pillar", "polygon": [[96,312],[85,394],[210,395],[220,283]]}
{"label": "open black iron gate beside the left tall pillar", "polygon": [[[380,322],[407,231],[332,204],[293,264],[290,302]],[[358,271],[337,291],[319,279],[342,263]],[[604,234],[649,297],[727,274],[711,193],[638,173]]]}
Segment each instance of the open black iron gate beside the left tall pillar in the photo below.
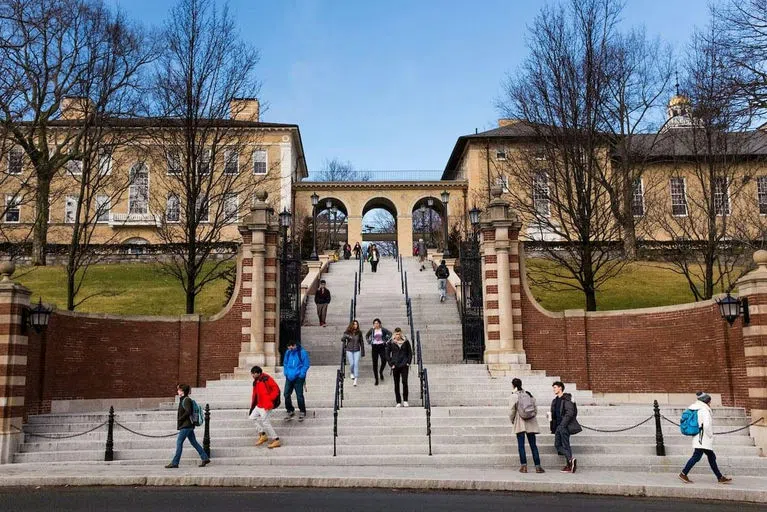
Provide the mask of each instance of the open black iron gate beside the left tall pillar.
{"label": "open black iron gate beside the left tall pillar", "polygon": [[283,243],[280,256],[280,364],[288,342],[301,343],[301,252]]}

